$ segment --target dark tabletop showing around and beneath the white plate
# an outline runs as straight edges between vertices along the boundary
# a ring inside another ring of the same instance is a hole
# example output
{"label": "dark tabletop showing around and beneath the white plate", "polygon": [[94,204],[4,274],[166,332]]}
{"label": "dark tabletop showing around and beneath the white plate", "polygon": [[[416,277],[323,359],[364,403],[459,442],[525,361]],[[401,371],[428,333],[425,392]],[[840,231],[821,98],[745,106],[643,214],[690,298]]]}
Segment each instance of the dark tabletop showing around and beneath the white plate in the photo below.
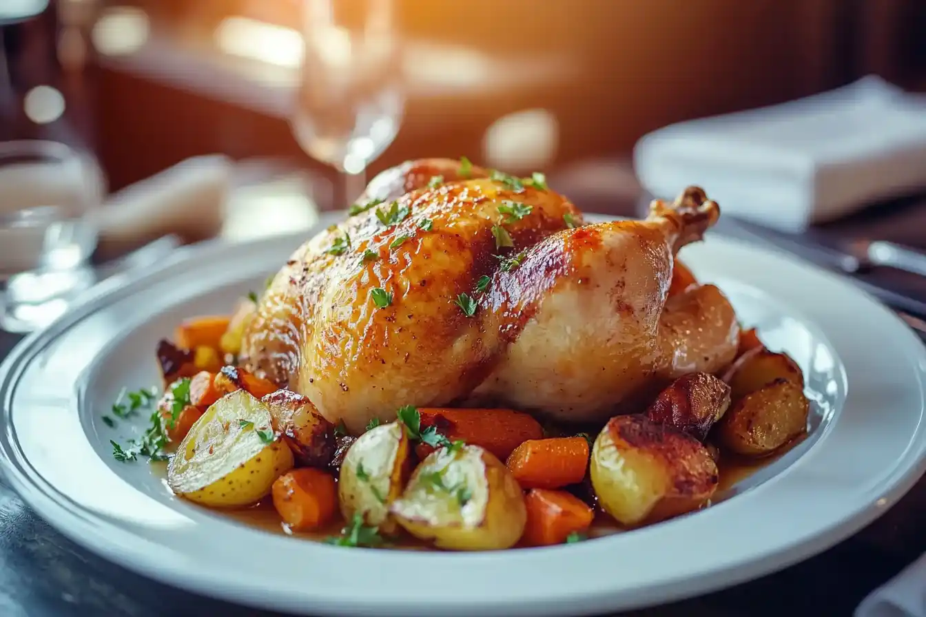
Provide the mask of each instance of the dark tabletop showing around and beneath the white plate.
{"label": "dark tabletop showing around and beneath the white plate", "polygon": [[[926,202],[907,205],[892,213],[853,217],[828,226],[825,231],[904,241],[926,248]],[[924,281],[897,275],[893,278],[899,287],[926,300]],[[0,332],[0,359],[17,341],[18,338]],[[812,512],[812,504],[808,504],[807,512],[808,515]],[[815,558],[719,593],[629,614],[849,615],[872,589],[926,551],[923,521],[926,521],[926,482],[920,480],[881,519]],[[756,533],[761,533],[761,529],[757,528]],[[619,568],[619,560],[611,567]],[[244,609],[159,585],[94,556],[45,524],[0,477],[0,617],[273,614],[278,613]]]}

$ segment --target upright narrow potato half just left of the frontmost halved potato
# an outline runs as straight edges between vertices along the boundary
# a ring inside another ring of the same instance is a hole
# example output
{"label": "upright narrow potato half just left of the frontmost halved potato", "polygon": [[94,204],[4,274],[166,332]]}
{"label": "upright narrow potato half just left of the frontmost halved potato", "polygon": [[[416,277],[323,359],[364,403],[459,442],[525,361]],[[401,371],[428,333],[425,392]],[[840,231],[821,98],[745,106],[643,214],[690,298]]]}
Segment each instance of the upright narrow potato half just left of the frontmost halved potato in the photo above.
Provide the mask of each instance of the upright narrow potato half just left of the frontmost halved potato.
{"label": "upright narrow potato half just left of the frontmost halved potato", "polygon": [[347,450],[338,477],[344,520],[357,512],[366,524],[392,533],[389,505],[402,494],[411,471],[411,444],[403,425],[393,422],[370,429]]}

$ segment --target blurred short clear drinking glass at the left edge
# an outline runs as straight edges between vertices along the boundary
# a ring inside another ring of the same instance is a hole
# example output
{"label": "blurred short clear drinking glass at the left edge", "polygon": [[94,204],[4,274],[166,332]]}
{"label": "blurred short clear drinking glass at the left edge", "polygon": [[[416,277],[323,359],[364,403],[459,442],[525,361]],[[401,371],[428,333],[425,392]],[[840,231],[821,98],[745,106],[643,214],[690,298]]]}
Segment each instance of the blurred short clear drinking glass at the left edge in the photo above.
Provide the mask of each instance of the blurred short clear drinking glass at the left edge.
{"label": "blurred short clear drinking glass at the left edge", "polygon": [[0,328],[46,325],[94,283],[98,168],[56,142],[0,143]]}

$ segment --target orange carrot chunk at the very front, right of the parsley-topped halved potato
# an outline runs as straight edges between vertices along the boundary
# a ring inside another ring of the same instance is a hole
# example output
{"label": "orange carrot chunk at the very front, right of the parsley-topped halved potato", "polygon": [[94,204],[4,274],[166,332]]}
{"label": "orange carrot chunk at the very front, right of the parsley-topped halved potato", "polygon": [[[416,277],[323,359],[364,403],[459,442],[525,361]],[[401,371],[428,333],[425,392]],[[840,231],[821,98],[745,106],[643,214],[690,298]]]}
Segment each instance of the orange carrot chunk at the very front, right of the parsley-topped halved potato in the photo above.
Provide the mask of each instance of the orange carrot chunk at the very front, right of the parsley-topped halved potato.
{"label": "orange carrot chunk at the very front, right of the parsley-topped halved potato", "polygon": [[532,488],[524,496],[527,525],[524,542],[532,546],[562,544],[569,534],[588,529],[594,512],[585,503],[565,490]]}

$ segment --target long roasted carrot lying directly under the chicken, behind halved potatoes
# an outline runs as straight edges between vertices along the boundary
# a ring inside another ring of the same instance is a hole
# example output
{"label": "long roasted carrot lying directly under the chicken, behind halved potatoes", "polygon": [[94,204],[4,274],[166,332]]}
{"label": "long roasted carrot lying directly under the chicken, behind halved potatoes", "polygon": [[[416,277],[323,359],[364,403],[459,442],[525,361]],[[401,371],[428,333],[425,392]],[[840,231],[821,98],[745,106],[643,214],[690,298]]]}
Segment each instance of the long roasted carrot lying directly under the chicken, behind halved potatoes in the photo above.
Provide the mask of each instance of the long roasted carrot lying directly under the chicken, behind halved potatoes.
{"label": "long roasted carrot lying directly under the chicken, behind halved potatoes", "polygon": [[[510,409],[419,409],[421,428],[433,426],[451,441],[482,446],[504,461],[528,439],[544,437],[544,429],[527,413]],[[424,458],[434,449],[424,443],[415,452]]]}

